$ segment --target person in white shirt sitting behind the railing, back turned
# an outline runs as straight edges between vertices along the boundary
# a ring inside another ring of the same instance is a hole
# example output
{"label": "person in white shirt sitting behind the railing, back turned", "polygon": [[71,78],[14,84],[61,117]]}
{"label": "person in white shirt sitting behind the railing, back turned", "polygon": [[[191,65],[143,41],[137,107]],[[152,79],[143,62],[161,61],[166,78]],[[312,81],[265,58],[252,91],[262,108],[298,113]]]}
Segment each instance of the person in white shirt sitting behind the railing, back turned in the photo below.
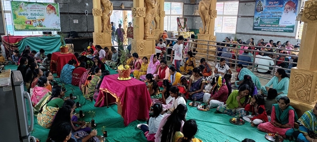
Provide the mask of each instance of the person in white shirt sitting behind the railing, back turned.
{"label": "person in white shirt sitting behind the railing, back turned", "polygon": [[[267,67],[267,66],[274,66],[274,61],[272,60],[272,57],[273,57],[272,54],[268,54],[267,56],[262,56],[258,60],[259,65],[258,65],[257,71],[259,73],[267,73],[267,74],[271,73],[271,71],[268,71],[268,70],[272,70],[272,68]],[[264,59],[262,59],[262,58],[264,58]],[[265,66],[263,66],[263,65],[265,65]]]}

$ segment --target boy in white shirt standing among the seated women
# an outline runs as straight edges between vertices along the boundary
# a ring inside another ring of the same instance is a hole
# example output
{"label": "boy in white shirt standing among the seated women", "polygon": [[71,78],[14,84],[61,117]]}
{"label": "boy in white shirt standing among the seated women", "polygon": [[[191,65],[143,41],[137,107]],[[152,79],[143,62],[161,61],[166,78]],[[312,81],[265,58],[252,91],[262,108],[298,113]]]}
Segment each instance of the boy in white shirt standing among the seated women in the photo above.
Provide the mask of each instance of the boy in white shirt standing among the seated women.
{"label": "boy in white shirt standing among the seated women", "polygon": [[[171,62],[174,64],[176,71],[180,72],[179,67],[180,67],[180,62],[183,59],[183,41],[184,37],[183,36],[178,36],[177,39],[177,44],[173,46],[172,53],[171,53]],[[173,54],[175,52],[175,61],[173,63]]]}

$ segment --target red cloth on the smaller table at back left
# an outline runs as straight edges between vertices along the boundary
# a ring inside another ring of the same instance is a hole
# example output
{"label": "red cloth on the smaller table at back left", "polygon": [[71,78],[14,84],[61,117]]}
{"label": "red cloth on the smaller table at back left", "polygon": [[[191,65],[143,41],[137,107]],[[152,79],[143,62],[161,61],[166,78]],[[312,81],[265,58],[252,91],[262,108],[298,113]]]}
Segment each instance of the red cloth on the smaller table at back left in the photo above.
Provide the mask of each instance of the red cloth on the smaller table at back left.
{"label": "red cloth on the smaller table at back left", "polygon": [[[72,53],[61,54],[60,52],[52,53],[51,58],[51,72],[57,73],[57,77],[59,77],[61,69],[63,69],[64,65],[68,63],[69,60],[74,59],[77,61],[76,56]],[[78,66],[78,61],[77,61]]]}

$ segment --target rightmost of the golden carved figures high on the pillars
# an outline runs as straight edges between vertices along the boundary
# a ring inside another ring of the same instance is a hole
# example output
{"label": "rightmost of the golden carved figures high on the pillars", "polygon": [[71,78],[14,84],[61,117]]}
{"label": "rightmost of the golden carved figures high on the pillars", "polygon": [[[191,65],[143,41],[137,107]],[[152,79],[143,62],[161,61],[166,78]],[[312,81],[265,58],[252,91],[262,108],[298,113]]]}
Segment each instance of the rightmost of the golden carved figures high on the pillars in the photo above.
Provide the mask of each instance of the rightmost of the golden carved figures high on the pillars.
{"label": "rightmost of the golden carved figures high on the pillars", "polygon": [[201,0],[198,5],[198,12],[202,20],[202,28],[199,28],[199,34],[209,34],[209,23],[211,0]]}

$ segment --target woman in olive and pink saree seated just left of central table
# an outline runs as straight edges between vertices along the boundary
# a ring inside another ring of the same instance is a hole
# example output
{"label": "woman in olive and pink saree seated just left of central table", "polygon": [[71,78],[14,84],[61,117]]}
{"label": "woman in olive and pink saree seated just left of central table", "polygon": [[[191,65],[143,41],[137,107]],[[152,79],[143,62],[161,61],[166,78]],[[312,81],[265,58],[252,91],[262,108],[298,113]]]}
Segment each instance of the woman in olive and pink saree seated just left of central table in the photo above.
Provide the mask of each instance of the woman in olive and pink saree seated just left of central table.
{"label": "woman in olive and pink saree seated just left of central table", "polygon": [[99,68],[91,69],[89,71],[87,80],[81,89],[85,99],[89,101],[93,100],[95,88],[100,80],[100,76],[101,76],[101,70]]}

